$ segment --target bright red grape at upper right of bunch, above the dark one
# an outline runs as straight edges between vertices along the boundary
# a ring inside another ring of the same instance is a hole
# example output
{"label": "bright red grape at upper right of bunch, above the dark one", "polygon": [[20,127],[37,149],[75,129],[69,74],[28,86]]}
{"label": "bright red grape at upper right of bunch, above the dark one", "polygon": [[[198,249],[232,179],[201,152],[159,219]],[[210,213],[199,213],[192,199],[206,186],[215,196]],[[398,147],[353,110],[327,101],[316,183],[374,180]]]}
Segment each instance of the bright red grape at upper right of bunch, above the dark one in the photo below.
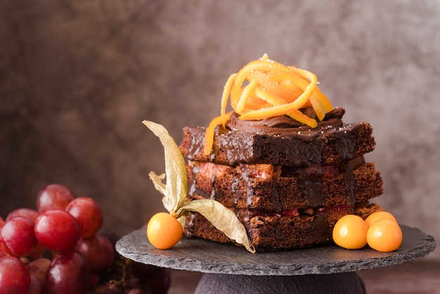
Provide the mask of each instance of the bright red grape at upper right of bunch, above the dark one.
{"label": "bright red grape at upper right of bunch, above the dark one", "polygon": [[98,203],[89,197],[79,197],[72,200],[65,208],[73,215],[81,228],[81,237],[89,238],[96,234],[103,225],[103,212]]}

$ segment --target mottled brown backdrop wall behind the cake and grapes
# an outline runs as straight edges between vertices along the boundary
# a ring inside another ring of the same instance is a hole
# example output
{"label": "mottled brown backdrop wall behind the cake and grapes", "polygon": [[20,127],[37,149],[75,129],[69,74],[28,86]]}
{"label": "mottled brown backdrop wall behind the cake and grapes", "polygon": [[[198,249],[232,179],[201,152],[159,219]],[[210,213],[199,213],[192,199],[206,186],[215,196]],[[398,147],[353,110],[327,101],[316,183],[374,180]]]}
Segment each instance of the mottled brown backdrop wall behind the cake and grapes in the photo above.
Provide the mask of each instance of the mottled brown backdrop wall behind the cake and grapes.
{"label": "mottled brown backdrop wall behind the cake and grapes", "polygon": [[163,210],[148,179],[162,146],[141,121],[179,143],[219,114],[228,75],[268,53],[373,125],[377,202],[439,240],[439,19],[427,0],[1,1],[0,215],[58,182],[98,200],[117,234],[137,229]]}

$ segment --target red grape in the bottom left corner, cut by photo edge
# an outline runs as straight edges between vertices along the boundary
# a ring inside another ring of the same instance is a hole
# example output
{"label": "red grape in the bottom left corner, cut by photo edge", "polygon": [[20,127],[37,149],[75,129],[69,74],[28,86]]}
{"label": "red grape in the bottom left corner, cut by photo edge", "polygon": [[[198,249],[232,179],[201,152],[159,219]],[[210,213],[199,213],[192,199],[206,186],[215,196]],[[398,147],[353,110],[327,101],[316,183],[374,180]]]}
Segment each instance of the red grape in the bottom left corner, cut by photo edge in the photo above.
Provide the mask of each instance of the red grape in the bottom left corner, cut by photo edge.
{"label": "red grape in the bottom left corner, cut by photo edge", "polygon": [[26,294],[30,287],[30,274],[25,264],[18,258],[5,256],[0,258],[1,293]]}

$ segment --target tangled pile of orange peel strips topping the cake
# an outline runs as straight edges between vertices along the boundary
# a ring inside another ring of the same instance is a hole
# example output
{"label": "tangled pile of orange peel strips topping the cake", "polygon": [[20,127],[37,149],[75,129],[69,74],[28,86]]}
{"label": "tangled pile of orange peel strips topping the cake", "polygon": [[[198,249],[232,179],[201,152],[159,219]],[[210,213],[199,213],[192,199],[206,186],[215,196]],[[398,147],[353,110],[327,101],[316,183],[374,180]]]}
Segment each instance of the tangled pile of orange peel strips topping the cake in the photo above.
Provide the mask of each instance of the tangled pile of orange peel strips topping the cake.
{"label": "tangled pile of orange peel strips topping the cake", "polygon": [[214,129],[225,127],[231,113],[226,113],[228,99],[241,120],[264,120],[268,117],[287,115],[294,120],[316,127],[318,122],[304,115],[301,108],[311,107],[318,120],[333,109],[328,98],[316,85],[313,72],[286,66],[264,54],[259,60],[247,63],[226,81],[221,96],[221,115],[209,123],[205,132],[205,155],[209,155],[214,143]]}

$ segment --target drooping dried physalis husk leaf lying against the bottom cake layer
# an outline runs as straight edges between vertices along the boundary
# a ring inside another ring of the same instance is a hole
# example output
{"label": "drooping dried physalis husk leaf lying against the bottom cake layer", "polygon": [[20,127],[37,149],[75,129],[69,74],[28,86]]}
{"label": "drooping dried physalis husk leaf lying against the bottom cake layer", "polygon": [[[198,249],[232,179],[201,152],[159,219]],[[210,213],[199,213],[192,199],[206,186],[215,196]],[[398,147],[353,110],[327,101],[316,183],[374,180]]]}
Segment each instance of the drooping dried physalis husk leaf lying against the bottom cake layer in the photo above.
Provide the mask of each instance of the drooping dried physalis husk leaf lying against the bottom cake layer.
{"label": "drooping dried physalis husk leaf lying against the bottom cake layer", "polygon": [[216,200],[198,199],[183,205],[177,214],[181,215],[186,211],[199,212],[205,217],[216,229],[224,232],[224,234],[242,244],[250,253],[255,253],[255,249],[250,245],[249,238],[245,226],[238,220],[233,210],[230,210]]}

